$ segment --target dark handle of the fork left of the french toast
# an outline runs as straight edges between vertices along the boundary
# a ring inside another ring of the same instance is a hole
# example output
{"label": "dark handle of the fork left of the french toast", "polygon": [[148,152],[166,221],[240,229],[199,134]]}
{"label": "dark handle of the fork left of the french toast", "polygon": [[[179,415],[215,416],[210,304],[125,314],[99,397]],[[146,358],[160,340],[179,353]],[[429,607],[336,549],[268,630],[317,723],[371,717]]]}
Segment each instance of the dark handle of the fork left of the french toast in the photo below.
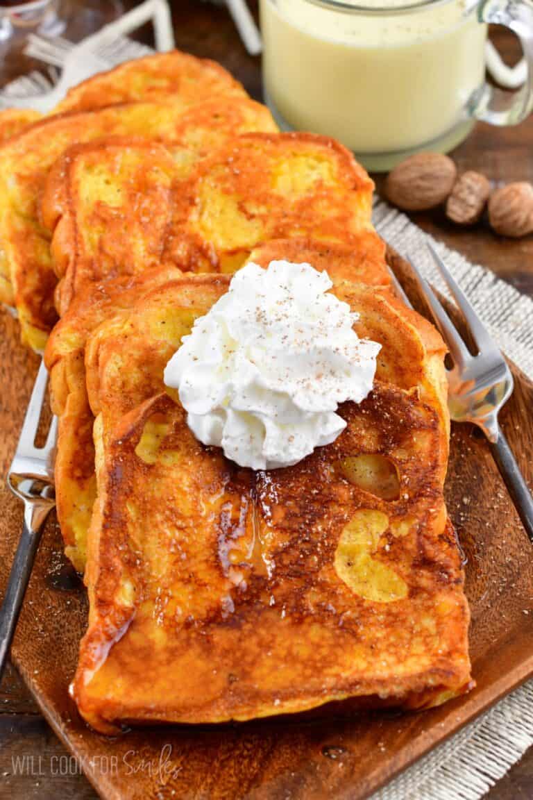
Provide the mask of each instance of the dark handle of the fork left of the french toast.
{"label": "dark handle of the fork left of the french toast", "polygon": [[22,534],[18,540],[6,596],[0,610],[0,682],[10,653],[26,587],[30,581],[35,554],[41,540],[42,526],[51,508],[50,503],[43,504],[38,501],[25,501],[24,506]]}

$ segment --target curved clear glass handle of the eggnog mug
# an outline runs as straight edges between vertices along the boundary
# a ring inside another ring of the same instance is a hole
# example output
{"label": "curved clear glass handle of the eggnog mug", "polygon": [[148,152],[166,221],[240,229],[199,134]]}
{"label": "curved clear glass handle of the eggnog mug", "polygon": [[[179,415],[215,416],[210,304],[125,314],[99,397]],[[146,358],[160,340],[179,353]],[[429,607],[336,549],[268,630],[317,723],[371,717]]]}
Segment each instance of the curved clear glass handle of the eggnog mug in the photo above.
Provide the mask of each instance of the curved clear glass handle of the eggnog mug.
{"label": "curved clear glass handle of the eggnog mug", "polygon": [[518,125],[533,109],[533,5],[529,0],[483,0],[477,14],[479,22],[503,25],[518,36],[527,75],[523,86],[515,92],[483,83],[471,97],[468,114],[491,125]]}

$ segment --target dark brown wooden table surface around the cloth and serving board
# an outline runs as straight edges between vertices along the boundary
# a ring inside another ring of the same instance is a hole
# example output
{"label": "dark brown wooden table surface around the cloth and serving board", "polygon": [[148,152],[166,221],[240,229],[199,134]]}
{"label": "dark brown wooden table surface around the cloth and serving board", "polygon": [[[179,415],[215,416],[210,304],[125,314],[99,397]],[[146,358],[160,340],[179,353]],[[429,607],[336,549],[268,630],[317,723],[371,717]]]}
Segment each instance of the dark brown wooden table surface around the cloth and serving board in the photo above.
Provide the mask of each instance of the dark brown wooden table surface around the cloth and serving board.
{"label": "dark brown wooden table surface around the cloth and serving board", "polygon": [[[76,0],[66,3],[73,14],[70,36],[82,38],[90,32],[88,5]],[[93,5],[109,7],[107,3]],[[135,5],[132,0],[123,3],[126,9]],[[261,99],[261,61],[246,54],[227,10],[201,0],[176,0],[172,6],[177,47],[221,62],[244,83],[253,98]],[[139,38],[150,43],[150,36],[148,29],[141,30]],[[519,54],[515,40],[501,30],[493,31],[492,36],[506,59],[514,62]],[[0,84],[30,66],[20,54],[7,58],[0,46]],[[452,155],[459,170],[479,170],[495,182],[533,182],[533,117],[515,128],[479,124]],[[379,189],[382,178],[374,177]],[[462,230],[451,226],[441,212],[416,214],[413,219],[448,246],[533,296],[533,237],[513,242],[496,238],[486,226]],[[0,800],[4,798],[96,798],[11,667],[0,688]],[[531,798],[533,748],[487,794],[487,800]]]}

